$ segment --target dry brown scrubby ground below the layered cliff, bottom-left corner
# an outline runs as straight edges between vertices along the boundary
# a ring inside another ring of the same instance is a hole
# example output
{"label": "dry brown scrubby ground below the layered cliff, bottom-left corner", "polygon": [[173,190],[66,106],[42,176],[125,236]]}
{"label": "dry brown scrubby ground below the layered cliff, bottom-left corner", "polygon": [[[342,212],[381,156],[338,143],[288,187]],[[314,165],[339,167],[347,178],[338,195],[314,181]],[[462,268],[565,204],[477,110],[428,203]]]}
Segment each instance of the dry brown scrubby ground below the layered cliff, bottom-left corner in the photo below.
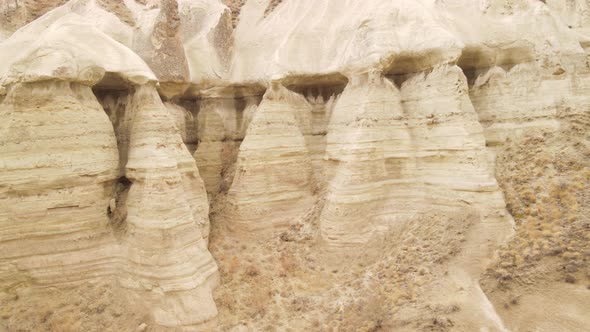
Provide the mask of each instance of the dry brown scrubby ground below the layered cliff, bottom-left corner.
{"label": "dry brown scrubby ground below the layered cliff, bottom-left corner", "polygon": [[[146,303],[116,282],[77,287],[14,288],[0,297],[0,331],[134,331],[153,325]],[[138,330],[139,331],[139,330]]]}

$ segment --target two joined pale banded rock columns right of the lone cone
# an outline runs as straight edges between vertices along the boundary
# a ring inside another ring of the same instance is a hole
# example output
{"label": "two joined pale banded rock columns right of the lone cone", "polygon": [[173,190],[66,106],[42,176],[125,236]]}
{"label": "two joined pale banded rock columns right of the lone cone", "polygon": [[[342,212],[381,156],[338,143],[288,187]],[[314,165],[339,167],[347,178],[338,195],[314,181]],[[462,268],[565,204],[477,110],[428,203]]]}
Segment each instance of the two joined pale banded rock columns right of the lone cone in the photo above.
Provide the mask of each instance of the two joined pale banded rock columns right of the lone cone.
{"label": "two joined pale banded rock columns right of the lone cone", "polygon": [[329,127],[322,237],[365,243],[424,211],[467,205],[501,240],[511,225],[485,144],[458,67],[417,74],[401,95],[379,72],[353,77]]}

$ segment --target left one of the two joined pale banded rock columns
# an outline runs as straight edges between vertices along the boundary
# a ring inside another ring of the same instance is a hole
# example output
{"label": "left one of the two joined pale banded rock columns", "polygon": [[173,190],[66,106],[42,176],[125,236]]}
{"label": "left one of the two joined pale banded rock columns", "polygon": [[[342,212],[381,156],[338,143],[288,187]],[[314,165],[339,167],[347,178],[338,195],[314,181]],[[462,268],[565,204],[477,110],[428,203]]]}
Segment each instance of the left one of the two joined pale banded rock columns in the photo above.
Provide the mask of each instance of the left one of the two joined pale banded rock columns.
{"label": "left one of the two joined pale banded rock columns", "polygon": [[328,127],[329,182],[320,221],[328,243],[365,243],[379,227],[376,220],[396,218],[383,209],[391,185],[407,172],[410,137],[401,119],[400,95],[392,82],[377,71],[352,77]]}

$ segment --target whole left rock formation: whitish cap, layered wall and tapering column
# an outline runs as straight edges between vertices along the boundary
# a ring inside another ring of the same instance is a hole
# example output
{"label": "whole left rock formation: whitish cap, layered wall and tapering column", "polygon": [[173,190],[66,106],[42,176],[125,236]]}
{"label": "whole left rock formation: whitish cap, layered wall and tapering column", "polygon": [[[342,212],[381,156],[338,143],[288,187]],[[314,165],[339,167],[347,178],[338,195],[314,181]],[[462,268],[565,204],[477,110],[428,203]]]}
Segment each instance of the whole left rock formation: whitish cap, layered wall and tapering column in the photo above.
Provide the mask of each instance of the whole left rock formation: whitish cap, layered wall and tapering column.
{"label": "whole left rock formation: whitish cap, layered wall and tapering column", "polygon": [[218,275],[187,128],[152,70],[114,39],[125,30],[86,24],[84,10],[105,13],[69,2],[0,55],[2,290],[115,282],[156,324],[201,325],[217,313]]}

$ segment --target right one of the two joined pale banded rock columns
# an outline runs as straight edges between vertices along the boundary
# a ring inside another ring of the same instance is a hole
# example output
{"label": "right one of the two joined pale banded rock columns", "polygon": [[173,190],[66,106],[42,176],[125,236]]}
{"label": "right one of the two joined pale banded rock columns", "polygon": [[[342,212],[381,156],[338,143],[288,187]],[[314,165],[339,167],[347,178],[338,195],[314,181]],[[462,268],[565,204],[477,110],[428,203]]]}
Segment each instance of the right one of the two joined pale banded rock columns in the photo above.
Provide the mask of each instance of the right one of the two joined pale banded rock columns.
{"label": "right one of the two joined pale banded rock columns", "polygon": [[[452,213],[474,210],[481,241],[491,257],[511,232],[511,219],[488,164],[484,130],[459,67],[443,65],[419,73],[401,88],[404,112],[411,116],[416,174],[424,209]],[[473,251],[472,251],[473,252]]]}

